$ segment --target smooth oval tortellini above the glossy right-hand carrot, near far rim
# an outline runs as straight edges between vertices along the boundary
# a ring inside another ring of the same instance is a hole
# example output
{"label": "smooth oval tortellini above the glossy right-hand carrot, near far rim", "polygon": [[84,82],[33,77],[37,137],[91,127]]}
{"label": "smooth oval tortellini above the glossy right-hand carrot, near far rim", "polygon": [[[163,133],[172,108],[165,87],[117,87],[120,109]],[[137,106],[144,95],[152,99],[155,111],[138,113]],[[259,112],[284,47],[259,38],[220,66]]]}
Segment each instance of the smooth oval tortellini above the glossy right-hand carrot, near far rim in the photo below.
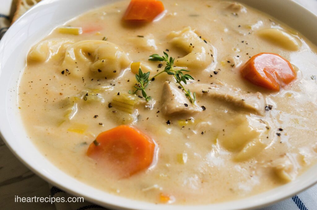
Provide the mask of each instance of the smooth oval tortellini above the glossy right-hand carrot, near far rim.
{"label": "smooth oval tortellini above the glossy right-hand carrot, near far rim", "polygon": [[298,51],[299,42],[289,33],[277,28],[262,29],[258,35],[269,42],[278,45],[286,50]]}

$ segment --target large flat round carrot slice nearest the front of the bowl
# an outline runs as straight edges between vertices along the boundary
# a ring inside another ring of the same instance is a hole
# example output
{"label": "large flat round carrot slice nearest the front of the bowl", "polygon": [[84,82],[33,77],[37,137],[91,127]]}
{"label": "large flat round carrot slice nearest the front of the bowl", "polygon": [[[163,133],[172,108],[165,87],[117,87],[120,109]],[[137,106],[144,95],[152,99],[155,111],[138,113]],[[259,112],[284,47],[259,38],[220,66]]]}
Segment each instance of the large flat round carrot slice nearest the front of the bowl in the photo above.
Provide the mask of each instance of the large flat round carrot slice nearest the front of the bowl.
{"label": "large flat round carrot slice nearest the front of the bowl", "polygon": [[122,177],[131,176],[151,165],[155,144],[136,128],[120,125],[100,133],[87,155]]}

